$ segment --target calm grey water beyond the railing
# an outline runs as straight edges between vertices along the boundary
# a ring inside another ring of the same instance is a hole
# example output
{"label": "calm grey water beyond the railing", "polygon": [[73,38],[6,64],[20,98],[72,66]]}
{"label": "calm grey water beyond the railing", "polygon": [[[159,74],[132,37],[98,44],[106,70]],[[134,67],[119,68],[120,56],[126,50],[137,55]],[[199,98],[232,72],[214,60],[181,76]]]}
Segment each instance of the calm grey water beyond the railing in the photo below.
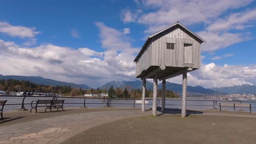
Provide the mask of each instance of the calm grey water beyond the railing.
{"label": "calm grey water beyond the railing", "polygon": [[[4,106],[4,111],[14,111],[19,110],[21,108],[22,99],[24,97],[5,97],[0,95],[0,100],[8,100],[7,104]],[[38,99],[52,99],[51,97],[26,97],[25,98],[25,108],[31,109],[30,105],[33,100]],[[65,99],[65,107],[81,107],[84,106],[84,98],[65,98],[59,97],[57,99]],[[152,107],[152,100],[148,99],[148,104],[146,104],[147,108]],[[218,100],[217,103],[219,104],[222,102]],[[223,101],[224,102],[224,101]],[[223,103],[222,102],[222,103]],[[71,104],[72,103],[72,104]],[[107,99],[92,99],[86,98],[85,100],[86,107],[105,107],[107,106]],[[240,101],[225,101],[225,103],[240,103]],[[247,103],[252,105],[252,111],[256,112],[256,100],[246,100],[242,101],[242,103]],[[18,104],[18,105],[16,105]],[[166,100],[166,108],[170,109],[181,109],[181,100]],[[134,100],[133,99],[112,99],[111,101],[112,107],[133,107]],[[161,100],[159,100],[159,106],[161,106]],[[141,104],[136,104],[135,107],[141,107]],[[219,109],[219,107],[217,107]],[[198,110],[205,110],[205,109],[213,109],[213,100],[187,100],[187,109],[198,109]],[[224,110],[234,110],[232,107],[224,108]],[[237,107],[237,110],[238,109]],[[248,109],[242,109],[243,111],[249,111]]]}

